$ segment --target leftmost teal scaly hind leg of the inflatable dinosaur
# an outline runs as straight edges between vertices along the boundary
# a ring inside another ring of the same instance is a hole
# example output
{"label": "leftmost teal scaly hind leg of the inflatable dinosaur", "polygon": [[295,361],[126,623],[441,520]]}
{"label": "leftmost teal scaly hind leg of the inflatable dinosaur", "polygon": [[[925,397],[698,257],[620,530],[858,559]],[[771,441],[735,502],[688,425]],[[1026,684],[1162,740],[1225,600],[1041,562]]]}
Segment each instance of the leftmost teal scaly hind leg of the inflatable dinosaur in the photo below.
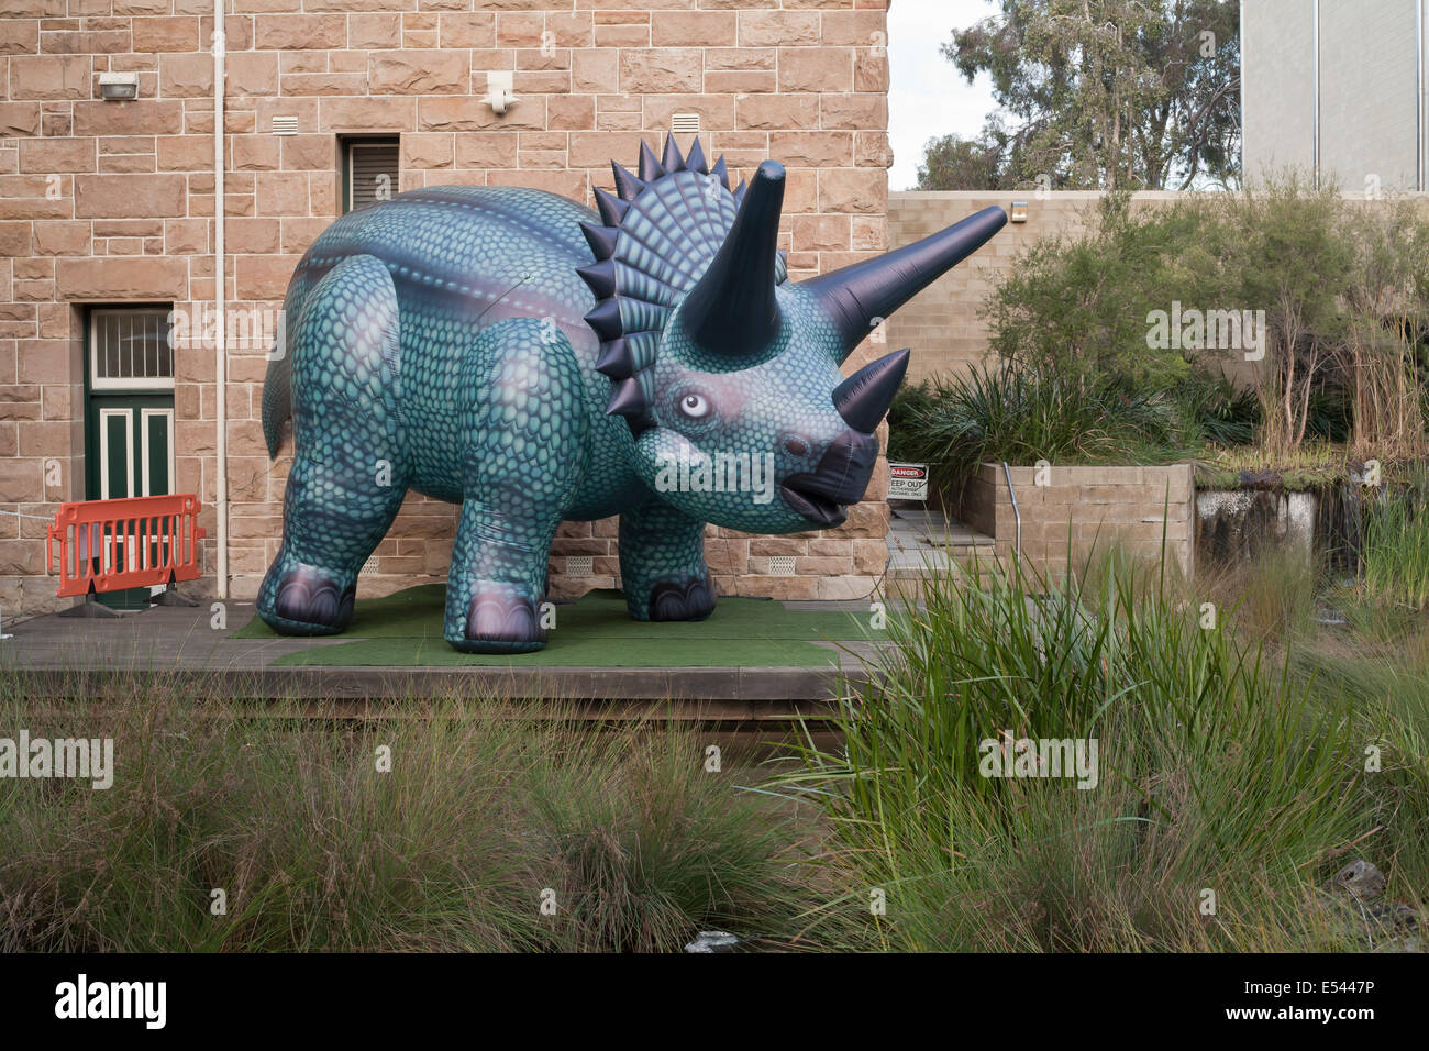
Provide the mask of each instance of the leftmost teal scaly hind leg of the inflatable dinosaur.
{"label": "leftmost teal scaly hind leg of the inflatable dinosaur", "polygon": [[354,256],[330,270],[296,320],[293,436],[283,546],[259,616],[284,635],[330,635],[353,613],[357,572],[406,493],[394,402],[397,299],[387,269]]}

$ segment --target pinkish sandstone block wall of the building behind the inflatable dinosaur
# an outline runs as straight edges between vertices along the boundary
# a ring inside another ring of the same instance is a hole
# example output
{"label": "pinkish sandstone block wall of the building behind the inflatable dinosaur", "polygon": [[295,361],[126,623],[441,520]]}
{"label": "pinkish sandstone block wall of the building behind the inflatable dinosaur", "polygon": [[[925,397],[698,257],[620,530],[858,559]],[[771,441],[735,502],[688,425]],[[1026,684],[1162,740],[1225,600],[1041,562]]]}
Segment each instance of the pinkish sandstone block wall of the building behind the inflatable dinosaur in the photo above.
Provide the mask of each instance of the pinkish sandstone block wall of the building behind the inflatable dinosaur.
{"label": "pinkish sandstone block wall of the building behind the inflatable dinosaur", "polygon": [[[607,160],[659,150],[673,113],[747,177],[789,167],[782,247],[812,276],[886,247],[885,0],[230,0],[227,296],[280,305],[302,252],[340,210],[339,136],[402,136],[402,189],[520,184],[593,203]],[[50,515],[84,493],[81,306],[173,303],[214,292],[209,0],[0,0],[0,510]],[[139,71],[140,100],[101,102],[99,73]],[[489,70],[520,102],[480,104]],[[299,133],[272,134],[276,116]],[[689,146],[689,137],[682,139]],[[865,347],[857,367],[882,347]],[[289,453],[259,423],[260,347],[229,356],[231,592],[252,596],[280,535]],[[177,485],[214,499],[211,350],[176,363]],[[46,465],[61,470],[47,475]],[[870,495],[882,498],[886,472]],[[867,593],[886,508],[827,535],[712,531],[726,592]],[[213,512],[204,516],[213,571]],[[452,508],[409,500],[364,591],[444,575]],[[43,522],[0,513],[0,609],[53,601]],[[614,583],[612,522],[567,525],[553,585]],[[594,575],[563,579],[569,556]],[[769,559],[795,558],[793,576]],[[211,576],[206,578],[211,586]]]}

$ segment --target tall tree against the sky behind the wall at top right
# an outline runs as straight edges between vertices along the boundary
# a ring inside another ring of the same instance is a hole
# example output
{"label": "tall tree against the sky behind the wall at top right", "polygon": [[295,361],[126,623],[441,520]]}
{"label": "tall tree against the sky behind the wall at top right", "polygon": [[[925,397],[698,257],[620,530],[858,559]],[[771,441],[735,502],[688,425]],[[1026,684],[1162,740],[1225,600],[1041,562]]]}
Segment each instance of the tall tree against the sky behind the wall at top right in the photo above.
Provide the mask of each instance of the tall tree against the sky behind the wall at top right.
{"label": "tall tree against the sky behind the wall at top right", "polygon": [[[1002,0],[943,56],[992,77],[1012,116],[976,152],[1003,186],[1185,189],[1239,177],[1239,4],[1219,0]],[[932,169],[933,166],[929,164]]]}

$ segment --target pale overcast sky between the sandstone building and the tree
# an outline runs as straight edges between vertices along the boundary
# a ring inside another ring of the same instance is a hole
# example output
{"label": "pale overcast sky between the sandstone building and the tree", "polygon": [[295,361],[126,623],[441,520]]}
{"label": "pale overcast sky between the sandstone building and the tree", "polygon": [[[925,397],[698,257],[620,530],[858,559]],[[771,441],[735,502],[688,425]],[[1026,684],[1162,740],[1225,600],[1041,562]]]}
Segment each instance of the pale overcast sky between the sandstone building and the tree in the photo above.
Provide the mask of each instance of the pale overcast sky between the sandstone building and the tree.
{"label": "pale overcast sky between the sandstone building and the tree", "polygon": [[969,84],[937,50],[953,29],[999,10],[992,0],[893,0],[889,6],[889,189],[917,182],[923,143],[933,136],[973,136],[993,110],[987,74]]}

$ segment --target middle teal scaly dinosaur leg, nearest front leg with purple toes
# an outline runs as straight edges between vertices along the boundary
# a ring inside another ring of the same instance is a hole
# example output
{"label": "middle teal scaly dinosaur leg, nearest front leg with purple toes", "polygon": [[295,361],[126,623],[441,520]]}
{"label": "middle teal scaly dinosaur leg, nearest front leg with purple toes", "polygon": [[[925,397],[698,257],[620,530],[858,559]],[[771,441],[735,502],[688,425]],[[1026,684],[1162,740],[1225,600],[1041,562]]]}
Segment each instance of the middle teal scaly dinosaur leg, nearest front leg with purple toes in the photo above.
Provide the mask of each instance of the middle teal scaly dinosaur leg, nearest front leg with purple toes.
{"label": "middle teal scaly dinosaur leg, nearest front leg with purple toes", "polygon": [[559,330],[513,317],[482,332],[463,373],[472,402],[443,635],[469,653],[540,649],[550,543],[586,470],[580,366]]}

